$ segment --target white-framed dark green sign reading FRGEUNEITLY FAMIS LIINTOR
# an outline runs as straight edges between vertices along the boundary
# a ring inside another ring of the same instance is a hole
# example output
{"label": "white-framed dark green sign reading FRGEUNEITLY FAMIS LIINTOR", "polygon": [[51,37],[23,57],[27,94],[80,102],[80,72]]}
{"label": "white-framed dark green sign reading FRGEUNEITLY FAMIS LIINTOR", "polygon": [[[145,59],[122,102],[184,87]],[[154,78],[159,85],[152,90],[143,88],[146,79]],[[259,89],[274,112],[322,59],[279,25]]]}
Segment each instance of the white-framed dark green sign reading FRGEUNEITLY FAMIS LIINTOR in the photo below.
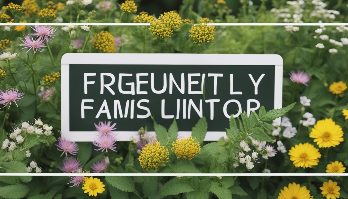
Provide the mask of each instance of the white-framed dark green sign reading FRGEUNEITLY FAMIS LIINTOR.
{"label": "white-framed dark green sign reading FRGEUNEITLY FAMIS LIINTOR", "polygon": [[[62,56],[62,137],[93,141],[94,123],[116,124],[118,141],[151,115],[166,128],[176,118],[187,136],[205,116],[205,141],[218,140],[229,115],[282,108],[283,59],[274,54],[104,54]],[[204,93],[204,94],[203,94]],[[154,133],[154,132],[152,132]]]}

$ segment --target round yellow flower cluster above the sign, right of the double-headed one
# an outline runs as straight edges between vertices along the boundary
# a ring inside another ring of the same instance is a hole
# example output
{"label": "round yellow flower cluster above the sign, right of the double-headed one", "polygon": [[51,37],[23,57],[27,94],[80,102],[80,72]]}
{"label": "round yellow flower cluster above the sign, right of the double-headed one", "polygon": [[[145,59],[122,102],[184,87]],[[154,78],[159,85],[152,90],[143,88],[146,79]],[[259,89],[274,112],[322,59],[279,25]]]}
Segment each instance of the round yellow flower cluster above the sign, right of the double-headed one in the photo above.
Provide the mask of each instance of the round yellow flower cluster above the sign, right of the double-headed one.
{"label": "round yellow flower cluster above the sign, right of the double-headed one", "polygon": [[201,18],[199,21],[200,24],[194,24],[190,30],[190,37],[193,40],[193,44],[197,43],[209,43],[214,39],[215,34],[215,26],[207,25],[207,23],[212,23],[213,20],[209,20],[209,18]]}

